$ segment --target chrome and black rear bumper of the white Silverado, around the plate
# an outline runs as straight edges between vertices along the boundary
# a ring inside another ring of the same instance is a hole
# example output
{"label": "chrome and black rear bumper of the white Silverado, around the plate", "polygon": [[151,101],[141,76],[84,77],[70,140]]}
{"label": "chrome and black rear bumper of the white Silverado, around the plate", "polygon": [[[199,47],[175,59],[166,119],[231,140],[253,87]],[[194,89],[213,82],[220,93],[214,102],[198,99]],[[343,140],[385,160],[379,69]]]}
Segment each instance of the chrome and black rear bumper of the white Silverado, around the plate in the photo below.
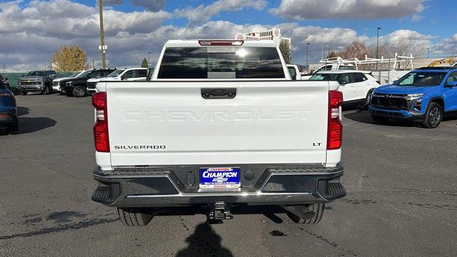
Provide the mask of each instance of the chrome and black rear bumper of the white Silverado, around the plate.
{"label": "chrome and black rear bumper of the white Silverado, around the plate", "polygon": [[[94,178],[99,186],[92,200],[113,207],[190,206],[216,201],[284,205],[326,203],[346,195],[339,182],[343,176],[341,163],[331,168],[297,164],[236,166],[241,168],[241,188],[234,191],[199,189],[197,166],[116,168],[113,171],[96,168]],[[246,173],[253,174],[253,178]]]}

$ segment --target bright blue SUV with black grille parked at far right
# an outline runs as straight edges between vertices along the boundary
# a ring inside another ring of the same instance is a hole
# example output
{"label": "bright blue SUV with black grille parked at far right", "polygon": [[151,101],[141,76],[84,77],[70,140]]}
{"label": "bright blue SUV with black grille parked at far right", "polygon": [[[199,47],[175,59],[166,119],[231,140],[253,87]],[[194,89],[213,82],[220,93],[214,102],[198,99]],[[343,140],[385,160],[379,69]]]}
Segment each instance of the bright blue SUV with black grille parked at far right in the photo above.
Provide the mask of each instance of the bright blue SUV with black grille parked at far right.
{"label": "bright blue SUV with black grille parked at far right", "polygon": [[416,69],[391,85],[378,87],[369,112],[378,123],[408,119],[435,129],[443,116],[457,113],[457,67]]}

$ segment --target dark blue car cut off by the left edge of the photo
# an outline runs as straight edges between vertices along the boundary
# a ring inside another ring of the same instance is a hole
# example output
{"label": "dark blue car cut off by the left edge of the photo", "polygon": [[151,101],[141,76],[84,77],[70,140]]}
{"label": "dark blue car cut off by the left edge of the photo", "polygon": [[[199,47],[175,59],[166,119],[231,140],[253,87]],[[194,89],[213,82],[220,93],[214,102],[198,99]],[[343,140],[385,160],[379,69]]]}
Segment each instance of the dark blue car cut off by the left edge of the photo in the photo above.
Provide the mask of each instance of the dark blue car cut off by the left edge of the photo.
{"label": "dark blue car cut off by the left edge of the photo", "polygon": [[19,130],[16,99],[2,81],[0,81],[0,129],[12,134],[18,133]]}

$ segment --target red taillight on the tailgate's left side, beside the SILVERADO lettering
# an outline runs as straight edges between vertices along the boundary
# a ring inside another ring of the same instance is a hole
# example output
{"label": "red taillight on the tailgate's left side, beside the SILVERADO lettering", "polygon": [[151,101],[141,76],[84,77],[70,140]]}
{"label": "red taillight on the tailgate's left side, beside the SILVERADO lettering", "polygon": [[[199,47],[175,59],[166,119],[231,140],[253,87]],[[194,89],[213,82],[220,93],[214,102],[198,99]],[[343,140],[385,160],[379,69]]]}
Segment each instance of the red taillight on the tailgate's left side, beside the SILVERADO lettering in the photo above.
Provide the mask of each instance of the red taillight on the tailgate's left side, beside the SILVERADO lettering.
{"label": "red taillight on the tailgate's left side, beside the SILVERADO lettering", "polygon": [[106,108],[106,92],[92,95],[92,105],[96,110],[94,125],[95,149],[99,152],[109,153],[108,111]]}

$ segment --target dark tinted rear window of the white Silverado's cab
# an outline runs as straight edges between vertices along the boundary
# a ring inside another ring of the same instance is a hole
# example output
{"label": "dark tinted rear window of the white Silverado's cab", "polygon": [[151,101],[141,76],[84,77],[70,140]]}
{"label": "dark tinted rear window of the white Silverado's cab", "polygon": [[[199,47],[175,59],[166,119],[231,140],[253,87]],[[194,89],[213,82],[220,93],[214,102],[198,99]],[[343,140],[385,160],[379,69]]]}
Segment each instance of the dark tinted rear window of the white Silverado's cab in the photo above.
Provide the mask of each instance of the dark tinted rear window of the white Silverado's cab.
{"label": "dark tinted rear window of the white Silverado's cab", "polygon": [[167,47],[158,79],[284,79],[274,47]]}

